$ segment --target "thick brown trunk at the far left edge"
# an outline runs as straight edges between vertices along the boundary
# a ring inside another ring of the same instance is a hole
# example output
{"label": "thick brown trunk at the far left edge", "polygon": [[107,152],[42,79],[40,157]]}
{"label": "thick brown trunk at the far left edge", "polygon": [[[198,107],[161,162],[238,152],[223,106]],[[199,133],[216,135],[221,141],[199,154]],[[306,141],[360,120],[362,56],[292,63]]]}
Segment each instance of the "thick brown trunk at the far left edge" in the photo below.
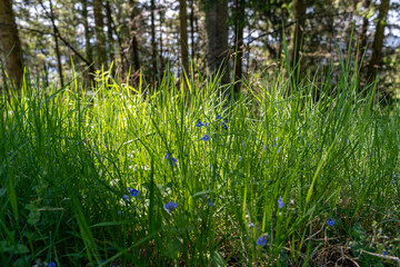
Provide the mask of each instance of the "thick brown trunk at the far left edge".
{"label": "thick brown trunk at the far left edge", "polygon": [[11,0],[0,0],[0,60],[4,60],[10,51],[11,53],[4,66],[11,82],[14,82],[16,89],[19,89],[23,76],[21,42],[18,36],[12,2]]}

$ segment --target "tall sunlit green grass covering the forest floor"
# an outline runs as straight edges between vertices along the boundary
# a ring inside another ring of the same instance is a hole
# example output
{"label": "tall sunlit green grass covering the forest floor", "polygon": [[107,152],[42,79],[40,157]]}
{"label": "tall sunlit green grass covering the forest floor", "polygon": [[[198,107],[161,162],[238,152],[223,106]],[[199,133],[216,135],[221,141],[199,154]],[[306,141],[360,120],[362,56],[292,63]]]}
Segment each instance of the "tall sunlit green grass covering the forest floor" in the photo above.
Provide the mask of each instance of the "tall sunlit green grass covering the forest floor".
{"label": "tall sunlit green grass covering the forest floor", "polygon": [[253,76],[231,102],[171,73],[150,90],[106,72],[91,96],[24,82],[0,103],[0,265],[396,264],[399,112],[332,73]]}

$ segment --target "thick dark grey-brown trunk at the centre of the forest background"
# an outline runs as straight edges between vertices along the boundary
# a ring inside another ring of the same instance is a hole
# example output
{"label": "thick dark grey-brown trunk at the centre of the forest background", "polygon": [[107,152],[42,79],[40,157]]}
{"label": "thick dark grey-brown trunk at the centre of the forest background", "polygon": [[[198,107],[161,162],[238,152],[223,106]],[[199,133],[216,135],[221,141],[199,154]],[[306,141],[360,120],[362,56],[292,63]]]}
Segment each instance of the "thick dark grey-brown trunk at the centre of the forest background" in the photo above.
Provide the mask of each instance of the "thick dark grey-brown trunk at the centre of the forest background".
{"label": "thick dark grey-brown trunk at the centre of the forest background", "polygon": [[206,30],[208,37],[208,69],[212,75],[221,68],[220,70],[223,71],[222,83],[228,83],[228,0],[209,0],[207,2]]}

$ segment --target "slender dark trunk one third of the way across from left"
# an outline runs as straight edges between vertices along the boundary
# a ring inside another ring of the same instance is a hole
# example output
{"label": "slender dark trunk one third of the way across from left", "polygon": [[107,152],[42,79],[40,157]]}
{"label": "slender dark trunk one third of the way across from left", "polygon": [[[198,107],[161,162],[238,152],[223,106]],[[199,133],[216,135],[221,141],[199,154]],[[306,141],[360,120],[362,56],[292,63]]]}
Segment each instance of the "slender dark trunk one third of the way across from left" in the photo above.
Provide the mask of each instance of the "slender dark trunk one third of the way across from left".
{"label": "slender dark trunk one third of the way across from left", "polygon": [[129,61],[133,65],[134,71],[140,69],[139,62],[139,43],[137,39],[137,3],[134,0],[129,0],[130,6],[130,19],[129,19],[129,31],[131,36],[131,41],[129,44],[130,52],[129,52]]}

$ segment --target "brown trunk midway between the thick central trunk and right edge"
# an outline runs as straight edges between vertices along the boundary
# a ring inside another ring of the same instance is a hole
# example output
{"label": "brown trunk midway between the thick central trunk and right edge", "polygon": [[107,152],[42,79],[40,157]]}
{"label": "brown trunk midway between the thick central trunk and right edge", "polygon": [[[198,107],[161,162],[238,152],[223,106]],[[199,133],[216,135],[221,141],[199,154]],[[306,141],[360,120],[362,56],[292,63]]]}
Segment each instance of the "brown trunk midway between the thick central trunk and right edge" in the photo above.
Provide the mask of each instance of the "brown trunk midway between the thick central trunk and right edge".
{"label": "brown trunk midway between the thick central trunk and right edge", "polygon": [[306,0],[293,0],[293,22],[290,33],[290,67],[297,68],[300,59],[300,46],[306,24]]}

